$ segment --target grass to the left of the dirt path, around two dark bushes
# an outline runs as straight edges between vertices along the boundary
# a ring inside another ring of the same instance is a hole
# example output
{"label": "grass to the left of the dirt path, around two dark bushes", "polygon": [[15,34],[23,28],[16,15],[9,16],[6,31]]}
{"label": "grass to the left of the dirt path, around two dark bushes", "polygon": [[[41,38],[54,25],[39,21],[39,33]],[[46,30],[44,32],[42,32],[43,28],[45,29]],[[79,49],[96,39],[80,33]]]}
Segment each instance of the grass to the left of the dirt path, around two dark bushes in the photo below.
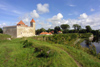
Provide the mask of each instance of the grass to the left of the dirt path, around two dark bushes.
{"label": "grass to the left of the dirt path, around two dark bushes", "polygon": [[[23,48],[21,40],[14,39],[0,44],[0,67],[77,67],[75,61],[65,52],[49,43],[28,39],[33,42],[33,48]],[[48,47],[55,55],[48,58],[36,57],[35,47]]]}

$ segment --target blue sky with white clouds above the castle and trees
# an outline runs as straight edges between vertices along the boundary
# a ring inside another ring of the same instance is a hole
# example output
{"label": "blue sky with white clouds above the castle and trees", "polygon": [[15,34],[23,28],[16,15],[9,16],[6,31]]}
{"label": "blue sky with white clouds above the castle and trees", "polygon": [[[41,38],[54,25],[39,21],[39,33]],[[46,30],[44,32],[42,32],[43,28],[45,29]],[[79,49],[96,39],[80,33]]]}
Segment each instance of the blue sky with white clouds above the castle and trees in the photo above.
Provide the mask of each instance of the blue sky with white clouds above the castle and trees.
{"label": "blue sky with white clouds above the castle and trees", "polygon": [[100,0],[0,0],[0,27],[16,25],[20,20],[36,29],[61,24],[90,25],[100,29]]}

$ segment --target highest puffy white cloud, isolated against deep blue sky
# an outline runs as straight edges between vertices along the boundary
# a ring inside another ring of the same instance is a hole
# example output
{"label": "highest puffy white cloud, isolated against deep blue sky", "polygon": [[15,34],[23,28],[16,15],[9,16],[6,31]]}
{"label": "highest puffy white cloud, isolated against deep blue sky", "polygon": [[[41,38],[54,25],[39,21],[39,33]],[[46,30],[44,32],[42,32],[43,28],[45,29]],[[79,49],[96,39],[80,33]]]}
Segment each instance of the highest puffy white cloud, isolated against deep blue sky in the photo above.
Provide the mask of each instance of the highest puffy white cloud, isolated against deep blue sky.
{"label": "highest puffy white cloud, isolated against deep blue sky", "polygon": [[40,13],[40,14],[43,14],[43,13],[47,13],[49,12],[49,4],[37,4],[37,11]]}

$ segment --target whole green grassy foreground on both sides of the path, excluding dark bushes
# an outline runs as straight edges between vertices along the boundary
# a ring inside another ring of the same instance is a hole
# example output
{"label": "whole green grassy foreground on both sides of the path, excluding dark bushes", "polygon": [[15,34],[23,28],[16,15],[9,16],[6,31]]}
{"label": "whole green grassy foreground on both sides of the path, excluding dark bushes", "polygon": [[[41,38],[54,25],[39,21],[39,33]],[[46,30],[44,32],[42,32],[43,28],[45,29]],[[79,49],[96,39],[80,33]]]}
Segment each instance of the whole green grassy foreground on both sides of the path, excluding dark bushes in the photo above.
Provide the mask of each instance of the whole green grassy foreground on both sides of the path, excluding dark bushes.
{"label": "whole green grassy foreground on both sides of the path, excluding dark bushes", "polygon": [[[23,48],[21,42],[26,39],[33,42],[32,48]],[[35,52],[35,47],[47,47],[54,55],[48,58],[37,57],[40,52]],[[75,60],[83,67],[100,67],[100,60],[70,46],[32,38],[0,42],[0,67],[77,67]]]}

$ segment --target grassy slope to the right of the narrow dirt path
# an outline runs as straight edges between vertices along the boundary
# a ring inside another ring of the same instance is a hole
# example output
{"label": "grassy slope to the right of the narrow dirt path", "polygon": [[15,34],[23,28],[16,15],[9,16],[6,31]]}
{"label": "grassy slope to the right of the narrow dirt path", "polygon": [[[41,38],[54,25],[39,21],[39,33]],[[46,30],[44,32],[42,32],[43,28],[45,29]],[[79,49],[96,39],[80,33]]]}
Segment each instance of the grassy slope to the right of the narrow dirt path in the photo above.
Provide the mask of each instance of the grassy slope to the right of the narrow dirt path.
{"label": "grassy slope to the right of the narrow dirt path", "polygon": [[[43,41],[36,41],[36,42],[48,44],[47,42],[43,42]],[[58,47],[61,50],[65,50],[68,54],[70,54],[73,57],[73,59],[78,61],[83,67],[100,67],[99,59],[97,59],[81,50],[75,49],[75,48],[67,46],[67,45],[66,46],[61,45],[61,44],[51,44],[51,45],[53,47]]]}

